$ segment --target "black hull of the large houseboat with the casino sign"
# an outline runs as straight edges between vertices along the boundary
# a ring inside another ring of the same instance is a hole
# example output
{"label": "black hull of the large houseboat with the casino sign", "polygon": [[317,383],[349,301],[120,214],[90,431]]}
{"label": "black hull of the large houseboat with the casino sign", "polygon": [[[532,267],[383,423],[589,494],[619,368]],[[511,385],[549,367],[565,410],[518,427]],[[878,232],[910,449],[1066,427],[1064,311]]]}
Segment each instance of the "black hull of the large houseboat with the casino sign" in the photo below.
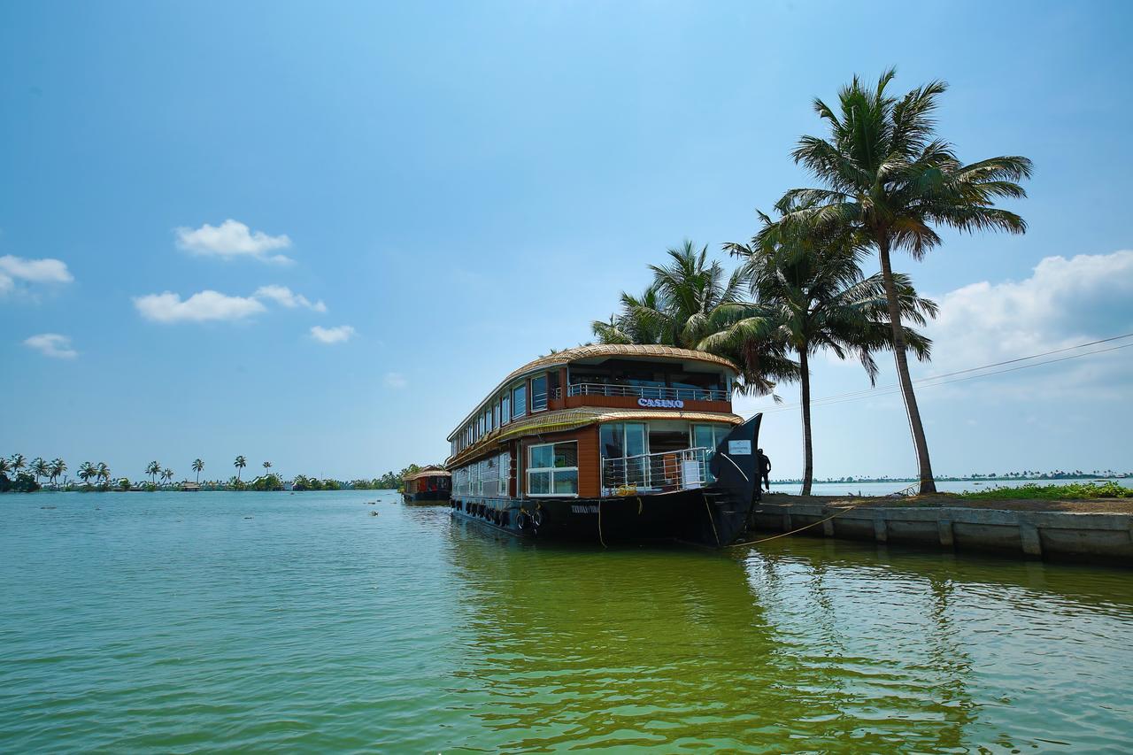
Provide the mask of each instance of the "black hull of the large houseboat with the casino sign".
{"label": "black hull of the large houseboat with the casino sign", "polygon": [[751,511],[718,487],[597,499],[458,499],[452,516],[488,524],[517,537],[604,545],[679,541],[722,548],[747,528]]}

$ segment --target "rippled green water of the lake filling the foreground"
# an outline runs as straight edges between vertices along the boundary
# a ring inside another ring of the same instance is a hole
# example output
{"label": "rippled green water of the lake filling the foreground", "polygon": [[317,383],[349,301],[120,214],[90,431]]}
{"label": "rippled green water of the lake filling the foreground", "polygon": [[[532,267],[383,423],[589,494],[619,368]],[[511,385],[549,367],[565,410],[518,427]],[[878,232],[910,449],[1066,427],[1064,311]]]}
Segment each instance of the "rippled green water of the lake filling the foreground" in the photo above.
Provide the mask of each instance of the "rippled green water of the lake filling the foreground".
{"label": "rippled green water of the lake filling the foreground", "polygon": [[373,492],[51,493],[0,498],[0,597],[5,753],[1133,736],[1119,570],[809,538],[531,545]]}

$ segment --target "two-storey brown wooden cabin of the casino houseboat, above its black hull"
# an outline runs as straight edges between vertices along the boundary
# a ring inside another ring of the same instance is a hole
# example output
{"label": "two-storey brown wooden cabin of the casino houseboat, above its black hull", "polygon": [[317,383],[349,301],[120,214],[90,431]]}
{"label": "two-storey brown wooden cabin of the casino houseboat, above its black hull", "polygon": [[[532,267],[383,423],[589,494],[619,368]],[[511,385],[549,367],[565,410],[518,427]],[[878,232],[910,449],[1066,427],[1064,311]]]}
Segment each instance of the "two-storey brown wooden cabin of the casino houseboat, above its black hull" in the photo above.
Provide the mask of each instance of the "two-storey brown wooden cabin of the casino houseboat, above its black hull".
{"label": "two-storey brown wooden cabin of the casino houseboat, above its black hull", "polygon": [[[700,487],[743,421],[727,359],[666,346],[580,346],[504,378],[449,435],[452,497],[597,499]],[[454,503],[455,504],[455,503]]]}

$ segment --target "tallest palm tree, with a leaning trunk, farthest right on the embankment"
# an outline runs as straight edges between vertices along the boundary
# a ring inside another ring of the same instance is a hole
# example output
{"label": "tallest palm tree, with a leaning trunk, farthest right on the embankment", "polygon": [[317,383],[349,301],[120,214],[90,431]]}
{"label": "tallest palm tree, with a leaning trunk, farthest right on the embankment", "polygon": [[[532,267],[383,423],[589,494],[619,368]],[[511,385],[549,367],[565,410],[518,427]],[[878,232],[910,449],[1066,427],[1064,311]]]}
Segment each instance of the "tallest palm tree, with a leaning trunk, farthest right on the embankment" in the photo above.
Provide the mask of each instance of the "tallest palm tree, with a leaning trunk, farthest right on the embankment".
{"label": "tallest palm tree, with a leaning trunk, farthest right on the embankment", "polygon": [[1030,177],[1031,161],[1004,155],[962,163],[951,144],[935,138],[937,97],[947,85],[930,82],[898,99],[885,91],[895,75],[895,69],[885,71],[872,90],[854,76],[838,92],[837,112],[815,100],[815,112],[829,126],[829,138],[803,136],[792,156],[825,188],[791,189],[776,206],[786,223],[851,228],[877,249],[897,379],[917,448],[920,491],[934,493],[932,465],[909,375],[901,295],[889,255],[904,249],[920,260],[940,244],[935,227],[1024,232],[1023,219],[996,207],[995,202],[1026,196],[1019,181]]}

